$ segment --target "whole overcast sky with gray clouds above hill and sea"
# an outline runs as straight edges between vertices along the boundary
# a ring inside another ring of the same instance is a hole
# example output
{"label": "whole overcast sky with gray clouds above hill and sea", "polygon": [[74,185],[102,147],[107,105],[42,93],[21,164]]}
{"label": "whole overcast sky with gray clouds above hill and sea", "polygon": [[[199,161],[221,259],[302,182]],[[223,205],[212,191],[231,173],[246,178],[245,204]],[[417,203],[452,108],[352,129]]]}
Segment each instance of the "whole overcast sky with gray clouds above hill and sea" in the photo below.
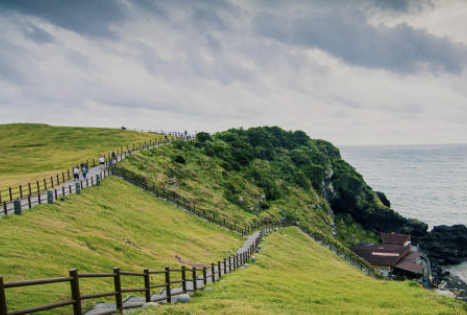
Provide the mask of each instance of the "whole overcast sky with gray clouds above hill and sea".
{"label": "whole overcast sky with gray clouds above hill and sea", "polygon": [[0,0],[0,124],[467,143],[465,0]]}

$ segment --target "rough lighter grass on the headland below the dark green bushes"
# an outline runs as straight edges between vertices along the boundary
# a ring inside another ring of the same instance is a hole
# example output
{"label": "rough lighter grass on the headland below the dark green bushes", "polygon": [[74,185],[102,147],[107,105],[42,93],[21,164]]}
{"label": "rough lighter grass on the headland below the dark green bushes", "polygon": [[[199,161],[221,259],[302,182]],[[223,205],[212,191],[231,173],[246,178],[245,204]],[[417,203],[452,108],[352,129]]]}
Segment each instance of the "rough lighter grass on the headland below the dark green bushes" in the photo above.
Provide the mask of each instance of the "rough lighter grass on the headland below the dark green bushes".
{"label": "rough lighter grass on the headland below the dark green bushes", "polygon": [[[284,184],[287,191],[283,198],[270,202],[268,209],[260,209],[264,191],[252,182],[247,171],[226,170],[222,160],[203,154],[191,144],[180,146],[180,149],[177,145],[171,145],[139,152],[119,163],[118,167],[147,178],[159,187],[174,190],[197,206],[229,220],[248,223],[264,218],[277,220],[284,214],[290,216],[293,213],[302,222],[312,222],[317,229],[329,232],[327,210],[324,207],[312,208],[313,204],[318,203],[313,190],[305,191]],[[186,162],[175,162],[177,155],[182,155]],[[170,182],[177,185],[171,187],[167,184]],[[231,186],[234,186],[236,195],[229,199],[226,187]],[[241,205],[237,202],[239,196],[243,199]]]}

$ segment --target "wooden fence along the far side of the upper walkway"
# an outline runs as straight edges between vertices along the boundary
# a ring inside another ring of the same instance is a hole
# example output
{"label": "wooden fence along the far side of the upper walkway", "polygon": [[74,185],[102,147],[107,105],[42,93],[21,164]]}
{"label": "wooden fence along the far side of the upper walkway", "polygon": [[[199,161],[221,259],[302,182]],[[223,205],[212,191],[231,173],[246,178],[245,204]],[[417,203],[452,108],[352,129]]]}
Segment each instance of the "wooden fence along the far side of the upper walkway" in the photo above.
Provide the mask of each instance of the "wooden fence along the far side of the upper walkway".
{"label": "wooden fence along the far side of the upper walkway", "polygon": [[[173,138],[175,136],[171,136]],[[180,138],[181,139],[181,138]],[[133,144],[127,144],[125,147],[120,147],[113,152],[108,152],[102,155],[108,165],[108,161],[115,154],[116,156],[126,156],[130,151],[136,152],[145,148],[150,148],[165,144],[167,141],[165,139],[155,138],[154,140],[138,142]],[[89,167],[95,167],[99,163],[99,158],[92,158],[81,161],[79,164],[87,164]],[[78,166],[77,164],[76,166]],[[30,197],[35,197],[40,195],[43,192],[46,192],[50,189],[54,189],[64,183],[70,181],[73,178],[73,167],[59,174],[54,174],[48,176],[42,180],[36,182],[29,182],[24,185],[18,185],[13,187],[8,187],[6,189],[0,190],[0,205],[5,207],[5,204],[13,203],[14,200],[24,200]]]}

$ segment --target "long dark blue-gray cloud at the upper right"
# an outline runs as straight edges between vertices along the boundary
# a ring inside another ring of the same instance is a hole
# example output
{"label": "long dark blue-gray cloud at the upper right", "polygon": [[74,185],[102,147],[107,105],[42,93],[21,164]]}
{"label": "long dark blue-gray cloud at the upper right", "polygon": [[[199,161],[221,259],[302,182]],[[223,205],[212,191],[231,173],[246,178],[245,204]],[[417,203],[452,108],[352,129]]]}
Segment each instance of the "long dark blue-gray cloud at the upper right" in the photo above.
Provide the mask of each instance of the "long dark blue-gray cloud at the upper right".
{"label": "long dark blue-gray cloud at the upper right", "polygon": [[358,11],[328,10],[299,17],[260,14],[255,25],[263,36],[318,48],[361,67],[460,73],[467,63],[467,48],[462,44],[406,24],[373,26]]}

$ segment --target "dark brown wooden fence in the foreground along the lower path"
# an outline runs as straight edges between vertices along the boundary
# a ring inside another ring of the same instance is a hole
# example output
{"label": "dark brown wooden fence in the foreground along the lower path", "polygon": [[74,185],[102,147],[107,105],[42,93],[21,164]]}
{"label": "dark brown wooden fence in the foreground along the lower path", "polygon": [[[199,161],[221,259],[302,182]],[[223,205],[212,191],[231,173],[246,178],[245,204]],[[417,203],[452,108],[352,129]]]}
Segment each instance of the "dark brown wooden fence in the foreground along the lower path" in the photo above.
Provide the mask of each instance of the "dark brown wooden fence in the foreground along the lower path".
{"label": "dark brown wooden fence in the foreground along the lower path", "polygon": [[[56,309],[59,307],[73,306],[73,315],[82,314],[82,302],[84,300],[113,297],[115,299],[116,307],[111,310],[106,310],[99,315],[104,314],[121,314],[124,309],[140,307],[148,302],[161,302],[166,301],[171,303],[173,297],[189,292],[196,292],[204,285],[219,281],[222,275],[233,272],[234,270],[245,265],[251,258],[251,255],[257,250],[259,242],[264,232],[270,232],[273,228],[281,227],[281,224],[268,224],[258,234],[254,242],[248,249],[239,252],[235,255],[223,258],[217,263],[211,263],[203,268],[170,268],[166,266],[164,270],[149,270],[144,269],[143,272],[124,272],[119,268],[114,268],[111,273],[79,273],[77,269],[70,269],[67,277],[25,280],[15,282],[4,282],[3,277],[0,276],[0,315],[21,315],[36,313],[44,310]],[[163,281],[159,283],[152,283],[151,276],[163,275]],[[123,277],[137,277],[141,279],[141,286],[138,288],[122,288]],[[112,278],[113,287],[109,288],[107,292],[100,292],[95,294],[82,294],[80,291],[80,281],[85,278]],[[174,280],[177,279],[177,280]],[[59,301],[56,303],[33,306],[26,309],[19,309],[8,311],[7,306],[7,290],[10,288],[18,288],[32,285],[46,285],[51,283],[68,283],[70,289],[70,299]],[[178,286],[178,288],[175,288]],[[153,290],[163,289],[159,295],[153,296]],[[144,294],[144,302],[139,304],[124,304],[123,297],[125,293],[140,293]]]}

